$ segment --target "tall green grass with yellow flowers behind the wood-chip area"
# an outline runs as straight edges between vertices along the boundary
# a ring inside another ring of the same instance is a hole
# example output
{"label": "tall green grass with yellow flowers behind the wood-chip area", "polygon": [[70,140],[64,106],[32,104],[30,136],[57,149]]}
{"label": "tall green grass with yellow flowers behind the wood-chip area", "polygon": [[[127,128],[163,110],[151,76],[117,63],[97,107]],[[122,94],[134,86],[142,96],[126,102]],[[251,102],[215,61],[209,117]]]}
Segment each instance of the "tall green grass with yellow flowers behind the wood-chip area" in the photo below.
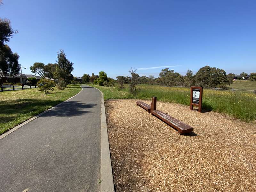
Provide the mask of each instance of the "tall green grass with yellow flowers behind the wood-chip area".
{"label": "tall green grass with yellow flowers behind the wood-chip area", "polygon": [[[151,100],[156,96],[157,100],[164,102],[179,103],[183,105],[190,104],[190,89],[180,87],[162,87],[159,85],[137,86],[139,89],[136,95],[128,92],[128,85],[121,91],[116,87],[102,87],[99,85],[91,85],[97,87],[104,94],[104,99],[145,99]],[[231,91],[215,91],[203,90],[203,106],[204,111],[215,111],[219,113],[234,116],[243,121],[256,120],[256,95],[246,92]]]}

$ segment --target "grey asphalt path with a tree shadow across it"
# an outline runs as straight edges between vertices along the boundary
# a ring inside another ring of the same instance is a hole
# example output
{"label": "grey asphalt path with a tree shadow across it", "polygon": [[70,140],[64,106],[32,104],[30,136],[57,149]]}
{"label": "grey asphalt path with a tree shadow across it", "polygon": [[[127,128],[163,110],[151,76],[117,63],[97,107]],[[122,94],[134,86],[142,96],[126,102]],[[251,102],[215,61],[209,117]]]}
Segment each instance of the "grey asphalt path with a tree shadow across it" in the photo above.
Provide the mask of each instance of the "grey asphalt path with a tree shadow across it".
{"label": "grey asphalt path with a tree shadow across it", "polygon": [[99,191],[101,94],[82,87],[0,140],[0,191]]}

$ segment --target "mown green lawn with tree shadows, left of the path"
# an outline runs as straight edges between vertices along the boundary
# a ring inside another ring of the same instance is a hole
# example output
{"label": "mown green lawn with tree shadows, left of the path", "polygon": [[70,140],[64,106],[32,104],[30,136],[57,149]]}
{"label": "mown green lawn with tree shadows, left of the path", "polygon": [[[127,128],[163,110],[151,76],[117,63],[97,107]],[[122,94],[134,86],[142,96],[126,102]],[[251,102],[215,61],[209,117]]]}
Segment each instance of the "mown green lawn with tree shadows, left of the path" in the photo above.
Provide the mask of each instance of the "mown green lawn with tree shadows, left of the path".
{"label": "mown green lawn with tree shadows, left of the path", "polygon": [[80,85],[68,85],[65,90],[49,94],[38,88],[0,92],[0,135],[81,91]]}

